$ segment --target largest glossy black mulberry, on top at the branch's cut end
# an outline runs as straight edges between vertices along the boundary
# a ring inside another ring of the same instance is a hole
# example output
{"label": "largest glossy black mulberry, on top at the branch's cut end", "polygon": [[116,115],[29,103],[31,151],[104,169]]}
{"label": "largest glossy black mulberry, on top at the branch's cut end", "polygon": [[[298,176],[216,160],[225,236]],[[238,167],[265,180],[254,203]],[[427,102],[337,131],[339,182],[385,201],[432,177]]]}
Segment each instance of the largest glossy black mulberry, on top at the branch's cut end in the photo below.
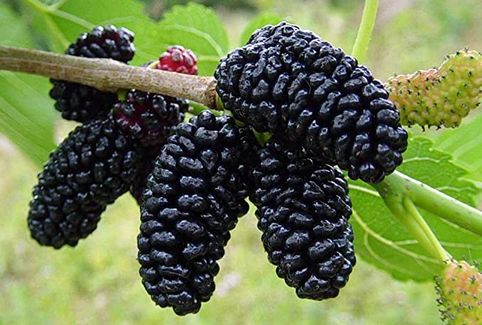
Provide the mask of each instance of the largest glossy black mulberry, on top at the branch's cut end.
{"label": "largest glossy black mulberry, on top at the branch's cut end", "polygon": [[266,26],[222,59],[214,77],[236,119],[283,134],[354,180],[380,182],[402,163],[407,133],[388,91],[310,31]]}

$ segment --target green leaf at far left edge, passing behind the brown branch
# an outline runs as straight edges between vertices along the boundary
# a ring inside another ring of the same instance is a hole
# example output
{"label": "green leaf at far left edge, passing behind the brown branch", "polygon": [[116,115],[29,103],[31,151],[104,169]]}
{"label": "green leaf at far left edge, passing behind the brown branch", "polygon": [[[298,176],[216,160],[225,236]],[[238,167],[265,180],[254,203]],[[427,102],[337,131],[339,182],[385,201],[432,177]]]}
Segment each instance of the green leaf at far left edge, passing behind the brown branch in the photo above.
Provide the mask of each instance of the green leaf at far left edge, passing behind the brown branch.
{"label": "green leaf at far left edge, passing behind the brown branch", "polygon": [[[21,19],[0,2],[1,45],[31,47],[33,40]],[[0,132],[33,162],[43,165],[53,143],[55,111],[48,98],[48,79],[0,72]]]}

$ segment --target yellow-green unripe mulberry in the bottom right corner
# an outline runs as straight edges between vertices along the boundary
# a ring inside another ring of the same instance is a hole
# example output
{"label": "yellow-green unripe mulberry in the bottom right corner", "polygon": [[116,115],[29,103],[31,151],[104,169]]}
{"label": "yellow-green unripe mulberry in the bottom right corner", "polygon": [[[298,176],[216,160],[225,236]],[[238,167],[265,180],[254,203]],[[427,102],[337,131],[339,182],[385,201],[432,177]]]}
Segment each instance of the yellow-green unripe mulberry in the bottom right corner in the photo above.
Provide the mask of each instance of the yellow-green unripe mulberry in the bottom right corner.
{"label": "yellow-green unripe mulberry in the bottom right corner", "polygon": [[465,261],[453,261],[436,280],[445,324],[482,324],[482,273]]}

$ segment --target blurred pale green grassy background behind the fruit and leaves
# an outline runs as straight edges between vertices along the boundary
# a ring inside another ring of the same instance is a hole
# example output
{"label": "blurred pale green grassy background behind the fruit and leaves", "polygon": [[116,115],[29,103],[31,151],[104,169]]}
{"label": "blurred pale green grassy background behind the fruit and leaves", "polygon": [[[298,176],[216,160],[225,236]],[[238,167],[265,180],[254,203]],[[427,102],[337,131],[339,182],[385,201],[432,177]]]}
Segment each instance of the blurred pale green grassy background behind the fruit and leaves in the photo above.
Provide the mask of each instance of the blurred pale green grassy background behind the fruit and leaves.
{"label": "blurred pale green grassy background behind the fruit and leaves", "polygon": [[[146,0],[146,13],[158,19],[186,2]],[[348,53],[363,9],[360,0],[197,2],[214,6],[233,45],[251,18],[269,11]],[[482,50],[481,21],[479,0],[380,0],[365,63],[379,79],[438,66],[464,46]],[[72,126],[59,120],[57,141]],[[180,318],[155,307],[141,285],[138,206],[128,194],[75,249],[40,248],[29,238],[26,215],[37,172],[0,133],[0,324],[439,324],[433,283],[398,282],[363,260],[338,298],[297,299],[268,263],[253,214],[232,233],[212,300]]]}

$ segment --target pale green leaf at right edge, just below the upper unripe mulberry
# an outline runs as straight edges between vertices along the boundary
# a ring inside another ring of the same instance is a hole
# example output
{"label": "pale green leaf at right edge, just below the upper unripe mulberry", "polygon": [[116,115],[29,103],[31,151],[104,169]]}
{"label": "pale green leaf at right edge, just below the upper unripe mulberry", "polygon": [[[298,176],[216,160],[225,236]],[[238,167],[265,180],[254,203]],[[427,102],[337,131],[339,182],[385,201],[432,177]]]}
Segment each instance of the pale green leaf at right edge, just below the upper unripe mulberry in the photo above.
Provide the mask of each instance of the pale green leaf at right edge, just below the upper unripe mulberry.
{"label": "pale green leaf at right edge, just below the upper unripe mulberry", "polygon": [[467,178],[482,182],[482,114],[464,121],[459,128],[437,132],[434,135],[435,146],[451,153],[454,160],[462,165],[469,175]]}

